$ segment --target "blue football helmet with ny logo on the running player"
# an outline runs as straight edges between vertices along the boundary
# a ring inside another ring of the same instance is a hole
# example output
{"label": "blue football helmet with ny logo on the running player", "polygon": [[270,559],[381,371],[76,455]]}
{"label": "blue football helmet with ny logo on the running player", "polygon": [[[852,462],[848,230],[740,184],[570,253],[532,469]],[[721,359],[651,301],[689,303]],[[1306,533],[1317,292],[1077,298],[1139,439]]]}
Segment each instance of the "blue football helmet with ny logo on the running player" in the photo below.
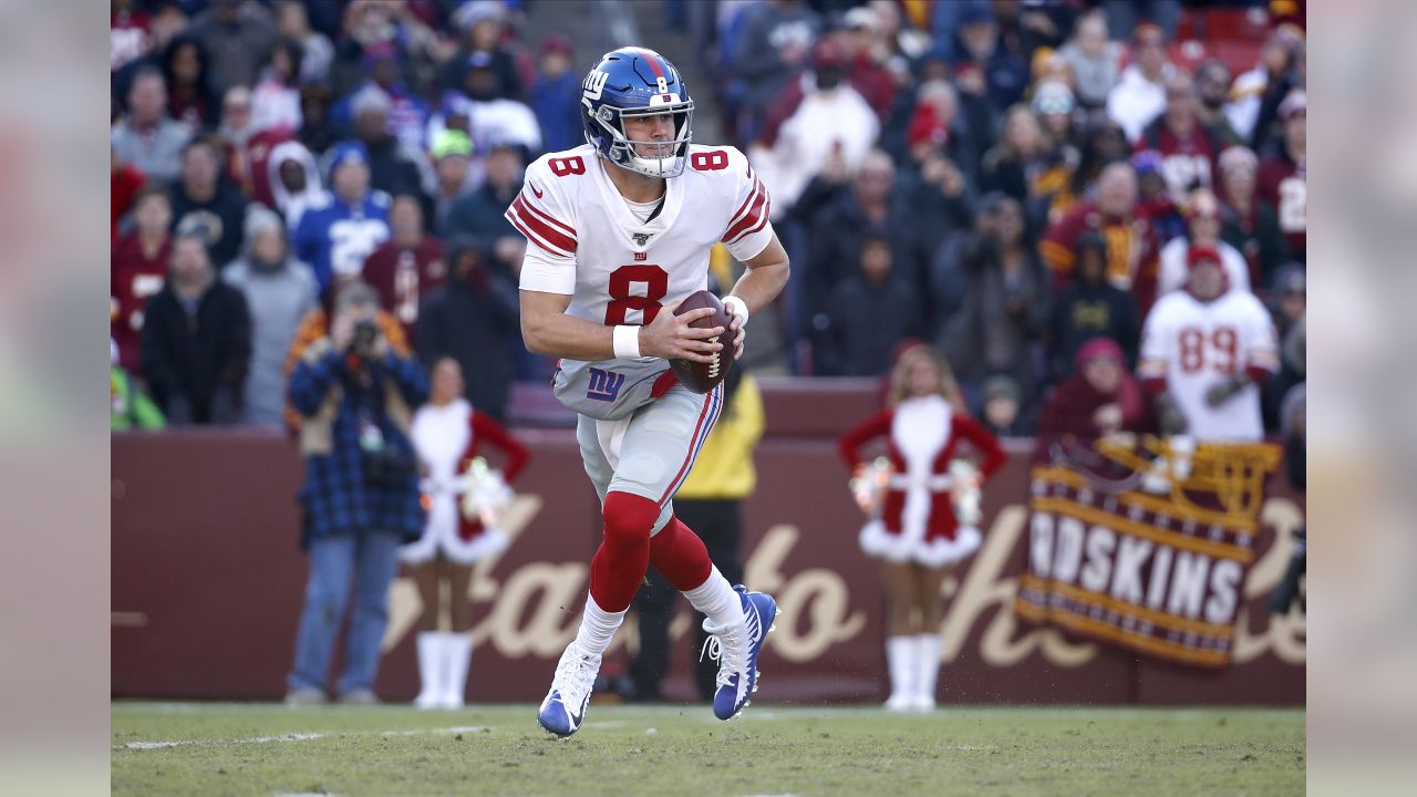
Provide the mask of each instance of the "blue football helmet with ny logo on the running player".
{"label": "blue football helmet with ny logo on the running player", "polygon": [[[639,142],[625,133],[625,119],[660,113],[673,113],[672,140]],[[689,157],[694,102],[669,58],[643,47],[621,47],[602,55],[599,64],[585,74],[581,121],[585,142],[602,157],[650,177],[676,177],[683,173],[684,159]],[[656,149],[669,152],[650,155]]]}

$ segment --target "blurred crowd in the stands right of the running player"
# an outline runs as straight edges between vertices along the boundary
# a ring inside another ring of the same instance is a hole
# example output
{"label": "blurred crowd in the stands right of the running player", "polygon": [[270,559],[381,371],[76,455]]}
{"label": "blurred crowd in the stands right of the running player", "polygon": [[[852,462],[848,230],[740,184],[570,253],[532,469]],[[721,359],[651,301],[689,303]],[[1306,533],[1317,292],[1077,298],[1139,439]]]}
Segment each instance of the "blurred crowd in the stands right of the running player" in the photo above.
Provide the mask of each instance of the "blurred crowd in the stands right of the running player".
{"label": "blurred crowd in the stands right of the running player", "polygon": [[689,11],[726,129],[774,191],[798,373],[883,374],[925,340],[993,431],[1032,434],[1090,339],[1136,366],[1149,311],[1214,248],[1229,289],[1299,338],[1264,386],[1281,425],[1304,373],[1302,4]]}

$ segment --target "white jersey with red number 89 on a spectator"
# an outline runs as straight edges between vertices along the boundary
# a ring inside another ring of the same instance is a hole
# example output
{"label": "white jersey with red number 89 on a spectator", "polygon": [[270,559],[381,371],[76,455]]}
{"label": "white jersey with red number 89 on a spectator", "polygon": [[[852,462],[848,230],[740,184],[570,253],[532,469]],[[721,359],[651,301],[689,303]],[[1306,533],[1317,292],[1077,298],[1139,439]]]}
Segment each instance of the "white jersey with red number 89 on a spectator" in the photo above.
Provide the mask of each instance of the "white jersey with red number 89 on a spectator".
{"label": "white jersey with red number 89 on a spectator", "polygon": [[1206,390],[1236,372],[1280,366],[1274,322],[1247,291],[1230,291],[1200,302],[1189,291],[1166,294],[1142,328],[1142,379],[1165,379],[1202,441],[1255,441],[1264,437],[1260,389],[1248,384],[1219,407],[1206,404]]}

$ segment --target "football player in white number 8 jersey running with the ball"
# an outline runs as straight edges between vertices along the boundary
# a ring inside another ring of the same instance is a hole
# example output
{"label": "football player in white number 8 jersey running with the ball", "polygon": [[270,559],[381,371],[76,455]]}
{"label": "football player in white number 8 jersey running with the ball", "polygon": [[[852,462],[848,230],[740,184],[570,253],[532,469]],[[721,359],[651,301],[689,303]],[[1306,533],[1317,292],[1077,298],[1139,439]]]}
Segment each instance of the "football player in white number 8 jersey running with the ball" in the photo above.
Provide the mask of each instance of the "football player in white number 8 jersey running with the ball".
{"label": "football player in white number 8 jersey running with the ball", "polygon": [[581,726],[601,654],[650,562],[707,615],[720,658],[714,715],[735,716],[757,685],[757,658],[777,614],[762,593],[733,587],[703,542],[674,519],[689,474],[723,404],[696,394],[670,359],[713,362],[711,315],[672,311],[704,289],[716,241],[748,271],[724,298],[743,352],[750,315],[782,289],[788,257],[768,223],[768,194],[737,149],[693,146],[693,102],[657,52],[605,54],[582,84],[585,146],[527,169],[507,218],[527,237],[521,332],[531,352],[561,357],[555,394],[580,413],[577,438],[601,496],[605,532],[575,640],[537,719],[558,736]]}

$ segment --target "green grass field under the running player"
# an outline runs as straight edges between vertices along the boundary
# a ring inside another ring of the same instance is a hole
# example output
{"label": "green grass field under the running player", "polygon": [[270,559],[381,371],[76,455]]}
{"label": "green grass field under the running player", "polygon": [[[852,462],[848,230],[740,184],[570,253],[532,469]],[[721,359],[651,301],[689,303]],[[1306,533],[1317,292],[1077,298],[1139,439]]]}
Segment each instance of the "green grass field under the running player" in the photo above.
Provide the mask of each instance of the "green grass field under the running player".
{"label": "green grass field under the running player", "polygon": [[113,794],[1302,794],[1302,709],[115,703]]}

